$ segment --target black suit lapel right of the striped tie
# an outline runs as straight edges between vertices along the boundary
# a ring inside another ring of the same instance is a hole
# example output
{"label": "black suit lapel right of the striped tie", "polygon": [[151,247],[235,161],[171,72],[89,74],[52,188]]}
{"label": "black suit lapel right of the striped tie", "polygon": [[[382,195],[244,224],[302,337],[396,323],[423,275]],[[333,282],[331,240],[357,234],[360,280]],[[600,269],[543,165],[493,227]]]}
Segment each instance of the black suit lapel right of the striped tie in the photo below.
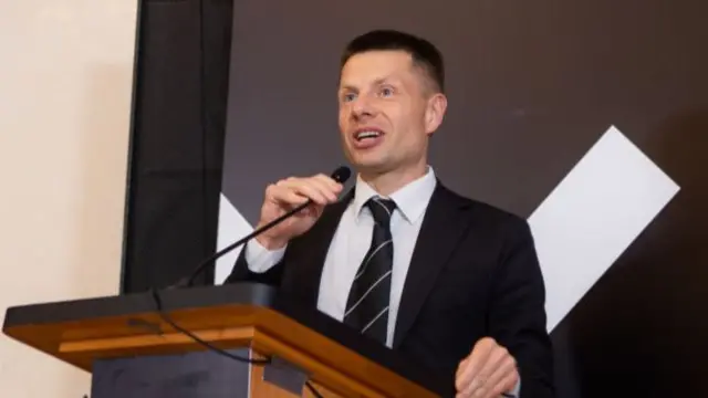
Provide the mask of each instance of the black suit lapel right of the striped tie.
{"label": "black suit lapel right of the striped tie", "polygon": [[413,326],[436,277],[450,259],[452,251],[467,230],[468,201],[456,196],[440,181],[430,198],[404,284],[394,348],[398,347]]}

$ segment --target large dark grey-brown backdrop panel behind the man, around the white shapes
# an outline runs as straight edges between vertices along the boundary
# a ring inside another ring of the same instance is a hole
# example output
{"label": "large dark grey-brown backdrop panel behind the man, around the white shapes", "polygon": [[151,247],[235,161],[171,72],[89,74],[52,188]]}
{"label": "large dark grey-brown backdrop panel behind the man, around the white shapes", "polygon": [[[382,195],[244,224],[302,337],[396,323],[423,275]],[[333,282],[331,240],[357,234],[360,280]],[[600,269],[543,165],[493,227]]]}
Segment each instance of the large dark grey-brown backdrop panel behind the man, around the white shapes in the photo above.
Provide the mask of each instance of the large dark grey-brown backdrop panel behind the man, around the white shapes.
{"label": "large dark grey-brown backdrop panel behind the man, around the white shapes", "polygon": [[529,217],[611,125],[681,187],[553,331],[559,396],[702,396],[706,12],[698,0],[237,2],[223,193],[256,223],[267,184],[344,163],[342,48],[374,28],[426,36],[450,100],[430,164],[459,192]]}

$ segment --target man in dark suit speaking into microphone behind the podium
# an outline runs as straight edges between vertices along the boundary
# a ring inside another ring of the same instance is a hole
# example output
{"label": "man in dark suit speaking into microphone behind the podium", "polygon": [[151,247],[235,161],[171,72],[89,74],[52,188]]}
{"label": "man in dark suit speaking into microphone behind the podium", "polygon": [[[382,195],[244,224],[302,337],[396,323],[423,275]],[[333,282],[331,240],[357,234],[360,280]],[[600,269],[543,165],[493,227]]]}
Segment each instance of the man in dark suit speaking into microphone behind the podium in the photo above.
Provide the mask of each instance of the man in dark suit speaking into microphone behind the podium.
{"label": "man in dark suit speaking into microphone behind the podium", "polygon": [[523,219],[446,188],[427,163],[442,122],[442,57],[429,42],[372,31],[345,49],[339,124],[356,185],[319,175],[266,190],[227,282],[259,281],[434,370],[458,397],[551,397],[544,284]]}

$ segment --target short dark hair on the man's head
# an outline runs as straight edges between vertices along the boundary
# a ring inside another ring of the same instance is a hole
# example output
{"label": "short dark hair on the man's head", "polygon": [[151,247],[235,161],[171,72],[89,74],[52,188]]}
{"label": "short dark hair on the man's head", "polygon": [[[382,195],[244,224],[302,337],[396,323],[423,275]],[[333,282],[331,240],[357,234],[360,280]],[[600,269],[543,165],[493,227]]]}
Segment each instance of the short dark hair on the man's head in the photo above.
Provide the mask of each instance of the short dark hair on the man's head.
{"label": "short dark hair on the man's head", "polygon": [[373,30],[354,38],[344,49],[340,67],[355,54],[376,50],[400,50],[413,57],[434,83],[436,90],[445,91],[445,65],[442,54],[429,41],[397,30]]}

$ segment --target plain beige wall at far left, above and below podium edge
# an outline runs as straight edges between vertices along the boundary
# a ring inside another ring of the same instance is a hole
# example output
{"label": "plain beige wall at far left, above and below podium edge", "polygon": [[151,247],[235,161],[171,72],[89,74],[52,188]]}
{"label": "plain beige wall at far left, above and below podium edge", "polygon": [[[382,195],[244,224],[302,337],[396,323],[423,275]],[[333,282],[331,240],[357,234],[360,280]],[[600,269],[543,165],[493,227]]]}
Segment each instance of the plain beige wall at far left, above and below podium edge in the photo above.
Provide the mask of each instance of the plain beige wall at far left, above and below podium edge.
{"label": "plain beige wall at far left, above and below podium edge", "polygon": [[[137,1],[0,3],[0,321],[118,291]],[[0,396],[88,392],[0,337]]]}

